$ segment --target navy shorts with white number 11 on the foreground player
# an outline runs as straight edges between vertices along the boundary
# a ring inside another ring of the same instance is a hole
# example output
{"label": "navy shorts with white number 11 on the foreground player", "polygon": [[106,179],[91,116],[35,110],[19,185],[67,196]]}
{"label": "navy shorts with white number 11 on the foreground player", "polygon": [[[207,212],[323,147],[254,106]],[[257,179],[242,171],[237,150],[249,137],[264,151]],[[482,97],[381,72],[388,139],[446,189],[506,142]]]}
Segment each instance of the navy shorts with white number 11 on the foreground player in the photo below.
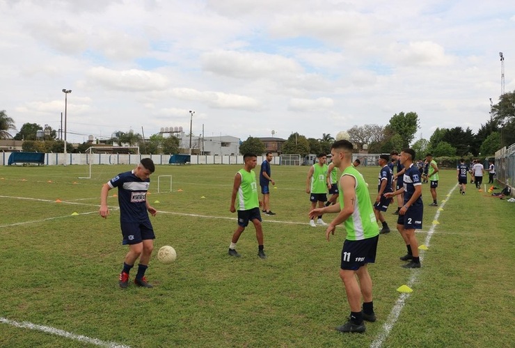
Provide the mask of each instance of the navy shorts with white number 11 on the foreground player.
{"label": "navy shorts with white number 11 on the foreground player", "polygon": [[345,242],[343,242],[340,268],[357,271],[367,263],[376,262],[378,241],[379,235],[361,240],[345,239]]}

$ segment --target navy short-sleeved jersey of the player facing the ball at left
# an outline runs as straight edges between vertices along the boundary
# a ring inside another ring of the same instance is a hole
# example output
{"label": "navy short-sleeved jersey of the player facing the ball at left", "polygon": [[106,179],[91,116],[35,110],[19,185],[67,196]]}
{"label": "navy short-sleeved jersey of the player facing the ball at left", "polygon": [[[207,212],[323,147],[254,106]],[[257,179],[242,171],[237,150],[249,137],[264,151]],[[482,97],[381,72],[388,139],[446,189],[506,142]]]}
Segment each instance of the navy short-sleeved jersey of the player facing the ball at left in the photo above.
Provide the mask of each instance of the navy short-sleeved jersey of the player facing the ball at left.
{"label": "navy short-sleeved jersey of the player facing the ball at left", "polygon": [[139,223],[148,221],[147,191],[150,179],[141,180],[134,171],[120,173],[107,182],[111,189],[118,187],[120,221]]}

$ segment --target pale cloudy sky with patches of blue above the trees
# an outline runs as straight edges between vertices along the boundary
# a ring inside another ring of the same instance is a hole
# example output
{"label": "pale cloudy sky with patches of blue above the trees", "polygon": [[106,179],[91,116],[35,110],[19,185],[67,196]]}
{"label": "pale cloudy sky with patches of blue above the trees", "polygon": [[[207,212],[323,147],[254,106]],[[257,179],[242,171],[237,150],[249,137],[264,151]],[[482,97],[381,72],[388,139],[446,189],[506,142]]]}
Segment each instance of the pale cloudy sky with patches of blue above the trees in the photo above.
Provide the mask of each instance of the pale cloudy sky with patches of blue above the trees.
{"label": "pale cloudy sky with patches of blue above the trees", "polygon": [[57,130],[72,90],[76,143],[190,122],[319,139],[410,111],[415,140],[477,132],[499,52],[515,90],[515,1],[0,0],[0,32],[0,110]]}

